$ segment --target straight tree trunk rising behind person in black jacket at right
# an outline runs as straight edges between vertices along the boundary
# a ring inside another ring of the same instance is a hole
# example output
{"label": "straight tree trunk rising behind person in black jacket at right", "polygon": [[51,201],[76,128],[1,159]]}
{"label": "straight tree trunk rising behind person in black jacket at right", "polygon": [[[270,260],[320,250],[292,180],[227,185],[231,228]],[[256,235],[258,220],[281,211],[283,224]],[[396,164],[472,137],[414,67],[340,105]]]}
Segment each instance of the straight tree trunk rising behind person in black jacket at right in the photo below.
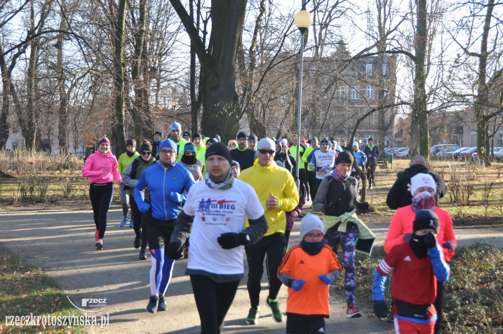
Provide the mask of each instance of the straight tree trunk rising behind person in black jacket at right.
{"label": "straight tree trunk rising behind person in black jacket at right", "polygon": [[[427,45],[427,5],[426,0],[416,0],[417,32],[415,41],[414,109],[418,116],[420,154],[430,161],[430,137],[426,101],[426,45]],[[415,153],[415,152],[412,152]]]}

